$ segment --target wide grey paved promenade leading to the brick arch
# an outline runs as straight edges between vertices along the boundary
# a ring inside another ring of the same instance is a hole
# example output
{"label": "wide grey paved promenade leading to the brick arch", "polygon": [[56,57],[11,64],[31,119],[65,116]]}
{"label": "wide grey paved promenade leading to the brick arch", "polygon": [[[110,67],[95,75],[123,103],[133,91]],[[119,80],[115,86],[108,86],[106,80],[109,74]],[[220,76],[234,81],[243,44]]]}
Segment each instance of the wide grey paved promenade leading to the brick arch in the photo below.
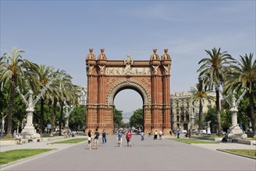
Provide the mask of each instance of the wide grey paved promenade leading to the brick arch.
{"label": "wide grey paved promenade leading to the brick arch", "polygon": [[[84,137],[84,136],[83,136]],[[76,138],[79,138],[76,136]],[[52,152],[12,162],[1,170],[255,170],[256,160],[216,151],[217,148],[256,149],[255,145],[220,143],[188,145],[151,136],[140,141],[133,135],[132,147],[118,147],[116,136],[108,136],[107,144],[87,149],[87,142],[76,145],[48,144],[49,141],[23,145],[2,145],[1,152],[15,148],[55,148]],[[56,141],[56,140],[55,140]],[[61,140],[58,140],[61,141]]]}

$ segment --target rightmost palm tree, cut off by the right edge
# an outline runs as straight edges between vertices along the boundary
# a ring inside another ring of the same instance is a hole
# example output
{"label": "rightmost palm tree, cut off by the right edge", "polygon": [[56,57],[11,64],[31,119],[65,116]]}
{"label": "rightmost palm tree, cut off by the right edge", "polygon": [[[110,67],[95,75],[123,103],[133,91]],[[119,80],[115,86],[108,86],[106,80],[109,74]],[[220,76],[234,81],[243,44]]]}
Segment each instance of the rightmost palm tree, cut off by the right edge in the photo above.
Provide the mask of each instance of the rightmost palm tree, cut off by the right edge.
{"label": "rightmost palm tree, cut off by the right edge", "polygon": [[230,66],[229,72],[226,75],[225,91],[239,90],[247,88],[250,99],[250,113],[252,130],[254,132],[254,138],[256,138],[256,117],[254,113],[254,89],[256,85],[256,59],[253,59],[253,54],[240,55],[240,61],[237,61],[237,65]]}

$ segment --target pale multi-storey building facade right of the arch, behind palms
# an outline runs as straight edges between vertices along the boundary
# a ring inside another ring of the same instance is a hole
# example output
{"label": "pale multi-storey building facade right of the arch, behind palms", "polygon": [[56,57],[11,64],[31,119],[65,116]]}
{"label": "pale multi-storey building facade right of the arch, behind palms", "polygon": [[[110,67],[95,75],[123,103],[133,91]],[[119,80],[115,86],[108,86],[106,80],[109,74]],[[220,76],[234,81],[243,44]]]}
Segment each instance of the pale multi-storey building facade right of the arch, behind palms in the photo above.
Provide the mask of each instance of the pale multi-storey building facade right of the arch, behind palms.
{"label": "pale multi-storey building facade right of the arch, behind palms", "polygon": [[[213,95],[214,96],[214,95]],[[175,92],[171,95],[171,127],[172,130],[176,130],[178,127],[180,130],[190,129],[190,113],[195,113],[196,118],[198,118],[199,113],[199,103],[194,102],[191,107],[190,103],[191,95],[187,92]],[[215,106],[215,101],[203,100],[203,111],[202,117],[204,118],[205,113],[208,109]],[[197,124],[197,123],[195,123]]]}

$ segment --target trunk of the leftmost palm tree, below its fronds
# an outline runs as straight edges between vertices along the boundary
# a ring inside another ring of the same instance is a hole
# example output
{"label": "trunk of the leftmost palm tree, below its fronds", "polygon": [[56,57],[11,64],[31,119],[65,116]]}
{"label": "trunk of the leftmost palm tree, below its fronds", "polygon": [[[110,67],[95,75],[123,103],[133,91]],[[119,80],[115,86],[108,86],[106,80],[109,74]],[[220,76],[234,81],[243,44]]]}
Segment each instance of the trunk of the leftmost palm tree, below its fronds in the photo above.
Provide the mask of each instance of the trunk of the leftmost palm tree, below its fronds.
{"label": "trunk of the leftmost palm tree, below its fronds", "polygon": [[12,81],[10,82],[10,99],[9,99],[9,113],[8,113],[8,120],[7,120],[7,130],[6,130],[6,137],[12,138],[12,110],[13,110],[13,103],[14,103],[14,82],[15,78],[12,77]]}

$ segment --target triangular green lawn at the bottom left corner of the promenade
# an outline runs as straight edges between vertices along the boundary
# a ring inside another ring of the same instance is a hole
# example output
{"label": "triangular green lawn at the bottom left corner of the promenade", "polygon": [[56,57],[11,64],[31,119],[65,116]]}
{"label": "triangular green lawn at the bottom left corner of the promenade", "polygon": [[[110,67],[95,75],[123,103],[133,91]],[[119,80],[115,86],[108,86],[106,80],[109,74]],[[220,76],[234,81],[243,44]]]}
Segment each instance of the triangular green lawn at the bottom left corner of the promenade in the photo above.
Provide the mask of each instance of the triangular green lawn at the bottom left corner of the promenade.
{"label": "triangular green lawn at the bottom left corner of the promenade", "polygon": [[53,148],[16,149],[7,152],[0,152],[0,165],[7,164],[9,162],[14,162],[19,159],[24,159],[33,155],[39,155],[43,152],[49,152],[51,150],[53,150]]}

